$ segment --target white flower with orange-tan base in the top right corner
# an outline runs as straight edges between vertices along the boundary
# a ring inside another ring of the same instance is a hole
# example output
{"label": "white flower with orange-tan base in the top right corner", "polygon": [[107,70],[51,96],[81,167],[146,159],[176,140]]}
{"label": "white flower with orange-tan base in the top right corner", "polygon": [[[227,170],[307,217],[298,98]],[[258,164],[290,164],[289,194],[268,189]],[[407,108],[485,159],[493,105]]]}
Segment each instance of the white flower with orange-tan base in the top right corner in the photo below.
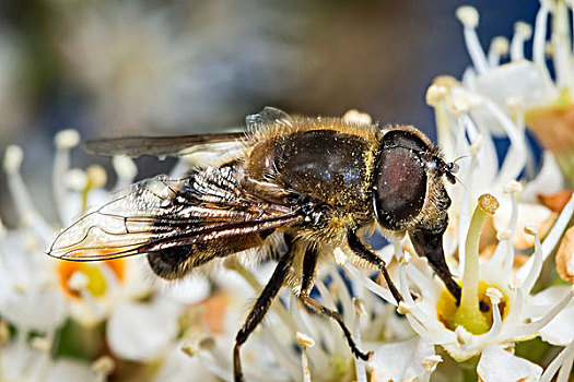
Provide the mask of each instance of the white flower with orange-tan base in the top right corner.
{"label": "white flower with orange-tan base in the top right corner", "polygon": [[[519,124],[526,123],[558,159],[561,169],[573,179],[574,167],[574,70],[572,67],[573,31],[571,1],[540,1],[534,27],[525,23],[515,24],[515,34],[509,44],[509,62],[501,64],[501,56],[508,53],[503,37],[493,40],[488,56],[481,48],[476,27],[478,13],[471,7],[461,7],[457,15],[465,26],[465,40],[472,59],[460,84],[465,89],[481,95],[497,105],[508,118]],[[468,14],[476,14],[476,22]],[[534,37],[532,37],[534,36]],[[524,53],[524,43],[530,37],[532,58]],[[552,61],[550,74],[548,59]],[[484,108],[471,111],[472,118],[488,127],[493,133],[507,134],[504,126]]]}

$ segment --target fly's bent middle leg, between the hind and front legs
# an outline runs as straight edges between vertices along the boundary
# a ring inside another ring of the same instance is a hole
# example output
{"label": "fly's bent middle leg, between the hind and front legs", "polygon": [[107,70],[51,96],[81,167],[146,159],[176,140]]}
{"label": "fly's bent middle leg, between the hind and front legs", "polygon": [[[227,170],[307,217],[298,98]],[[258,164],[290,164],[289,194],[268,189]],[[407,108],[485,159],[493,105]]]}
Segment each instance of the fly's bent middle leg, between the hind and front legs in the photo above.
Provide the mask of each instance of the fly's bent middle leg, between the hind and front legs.
{"label": "fly's bent middle leg, between the hind and front legs", "polygon": [[317,251],[315,248],[308,247],[305,251],[305,258],[303,259],[303,277],[301,283],[301,293],[298,295],[300,300],[312,312],[319,315],[326,315],[337,321],[337,323],[339,324],[339,326],[341,326],[341,330],[343,331],[343,334],[347,338],[347,342],[349,343],[349,347],[351,347],[351,351],[353,353],[353,355],[358,358],[361,358],[364,361],[368,360],[372,356],[372,353],[370,351],[367,354],[364,354],[358,349],[351,336],[351,332],[349,332],[349,329],[347,329],[347,325],[344,324],[341,314],[335,310],[323,306],[319,301],[315,300],[309,296],[311,289],[313,288],[313,278],[315,277],[316,266]]}

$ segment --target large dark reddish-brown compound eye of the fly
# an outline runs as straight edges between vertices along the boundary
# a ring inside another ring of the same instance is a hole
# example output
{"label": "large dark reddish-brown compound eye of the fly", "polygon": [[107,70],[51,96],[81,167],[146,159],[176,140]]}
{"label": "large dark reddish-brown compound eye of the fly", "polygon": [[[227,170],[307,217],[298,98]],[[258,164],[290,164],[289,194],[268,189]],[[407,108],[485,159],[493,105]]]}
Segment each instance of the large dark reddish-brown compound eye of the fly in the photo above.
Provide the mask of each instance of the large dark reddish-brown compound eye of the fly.
{"label": "large dark reddish-brown compound eye of the fly", "polygon": [[412,150],[388,147],[375,168],[375,215],[387,229],[405,229],[419,214],[426,195],[424,164]]}

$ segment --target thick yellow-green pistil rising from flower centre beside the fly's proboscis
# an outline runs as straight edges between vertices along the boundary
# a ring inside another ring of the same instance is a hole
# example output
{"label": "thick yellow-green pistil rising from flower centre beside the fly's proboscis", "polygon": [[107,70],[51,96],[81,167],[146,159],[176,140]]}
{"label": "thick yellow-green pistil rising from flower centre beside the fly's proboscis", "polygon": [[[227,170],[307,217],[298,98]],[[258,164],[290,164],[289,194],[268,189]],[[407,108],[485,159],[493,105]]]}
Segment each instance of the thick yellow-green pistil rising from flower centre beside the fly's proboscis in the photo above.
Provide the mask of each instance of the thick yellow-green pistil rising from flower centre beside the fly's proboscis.
{"label": "thick yellow-green pistil rising from flower centre beside the fly's proboscis", "polygon": [[456,323],[464,324],[468,331],[475,334],[482,334],[489,330],[487,318],[479,309],[479,240],[487,216],[493,215],[497,207],[499,202],[496,198],[490,194],[483,194],[479,198],[479,203],[470,219],[465,244],[465,270],[462,273],[460,307],[456,311],[454,319]]}

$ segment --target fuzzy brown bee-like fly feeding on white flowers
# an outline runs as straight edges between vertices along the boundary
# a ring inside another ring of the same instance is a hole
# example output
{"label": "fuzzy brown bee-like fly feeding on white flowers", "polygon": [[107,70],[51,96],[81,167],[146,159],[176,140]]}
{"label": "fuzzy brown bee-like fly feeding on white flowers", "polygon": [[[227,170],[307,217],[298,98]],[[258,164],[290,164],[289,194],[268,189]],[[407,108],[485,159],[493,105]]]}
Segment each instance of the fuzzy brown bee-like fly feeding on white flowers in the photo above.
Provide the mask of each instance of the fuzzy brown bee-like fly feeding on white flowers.
{"label": "fuzzy brown bee-like fly feeding on white flowers", "polygon": [[235,381],[243,381],[241,346],[284,285],[311,312],[340,325],[355,357],[370,358],[356,347],[340,313],[309,293],[317,265],[340,247],[379,270],[394,298],[402,301],[385,262],[363,240],[375,226],[387,237],[408,235],[417,253],[460,299],[443,252],[450,205],[443,177],[455,182],[458,166],[446,163],[421,131],[292,118],[274,108],[246,122],[246,132],[239,133],[86,143],[89,152],[101,154],[214,153],[221,158],[183,179],[161,176],[132,184],[63,229],[48,254],[71,261],[145,254],[157,276],[176,279],[215,259],[274,247],[278,264],[235,339]]}

